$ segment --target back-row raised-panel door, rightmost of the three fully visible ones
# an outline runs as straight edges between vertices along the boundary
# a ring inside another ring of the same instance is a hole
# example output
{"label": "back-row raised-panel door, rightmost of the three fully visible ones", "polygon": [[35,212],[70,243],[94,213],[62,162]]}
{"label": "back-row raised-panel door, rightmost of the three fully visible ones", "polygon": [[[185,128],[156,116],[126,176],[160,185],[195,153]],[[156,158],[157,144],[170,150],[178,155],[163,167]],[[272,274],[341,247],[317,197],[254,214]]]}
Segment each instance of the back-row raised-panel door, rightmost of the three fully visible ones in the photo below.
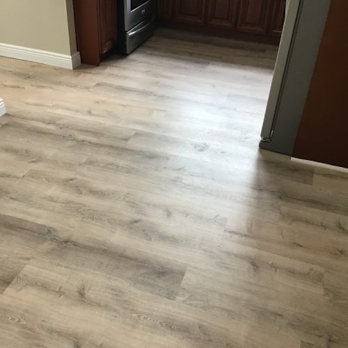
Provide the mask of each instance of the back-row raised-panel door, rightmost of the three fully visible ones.
{"label": "back-row raised-panel door, rightmost of the three fully visible ones", "polygon": [[267,33],[270,15],[271,0],[240,0],[237,30]]}

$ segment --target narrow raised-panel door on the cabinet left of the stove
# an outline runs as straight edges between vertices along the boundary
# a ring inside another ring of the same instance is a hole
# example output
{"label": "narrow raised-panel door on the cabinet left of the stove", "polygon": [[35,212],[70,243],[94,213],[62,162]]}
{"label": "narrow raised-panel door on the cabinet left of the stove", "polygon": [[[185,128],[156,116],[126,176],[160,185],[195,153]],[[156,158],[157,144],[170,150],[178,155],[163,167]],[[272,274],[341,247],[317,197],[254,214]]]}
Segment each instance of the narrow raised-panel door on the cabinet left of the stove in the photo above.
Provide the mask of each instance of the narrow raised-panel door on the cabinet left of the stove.
{"label": "narrow raised-panel door on the cabinet left of the stove", "polygon": [[100,54],[116,43],[116,0],[99,0]]}

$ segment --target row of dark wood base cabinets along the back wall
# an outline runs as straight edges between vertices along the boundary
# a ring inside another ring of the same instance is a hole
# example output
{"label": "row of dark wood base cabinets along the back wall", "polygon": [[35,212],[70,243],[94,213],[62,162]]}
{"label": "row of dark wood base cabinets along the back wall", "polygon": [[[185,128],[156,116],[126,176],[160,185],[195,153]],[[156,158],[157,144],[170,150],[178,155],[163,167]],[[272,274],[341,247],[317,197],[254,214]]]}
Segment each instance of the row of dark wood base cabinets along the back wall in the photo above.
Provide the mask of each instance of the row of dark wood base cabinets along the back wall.
{"label": "row of dark wood base cabinets along the back wall", "polygon": [[161,24],[244,40],[278,43],[286,0],[157,0]]}

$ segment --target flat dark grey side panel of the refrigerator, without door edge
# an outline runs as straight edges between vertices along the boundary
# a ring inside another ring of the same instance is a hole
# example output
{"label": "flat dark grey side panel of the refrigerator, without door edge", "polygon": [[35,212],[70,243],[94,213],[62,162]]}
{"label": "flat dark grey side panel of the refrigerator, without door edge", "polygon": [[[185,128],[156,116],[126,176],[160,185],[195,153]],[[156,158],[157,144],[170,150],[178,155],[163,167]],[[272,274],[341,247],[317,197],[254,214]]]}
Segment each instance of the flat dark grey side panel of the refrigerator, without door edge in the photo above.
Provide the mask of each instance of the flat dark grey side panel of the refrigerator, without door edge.
{"label": "flat dark grey side panel of the refrigerator, without door edge", "polygon": [[330,5],[331,0],[301,0],[271,139],[262,140],[261,148],[292,155]]}

